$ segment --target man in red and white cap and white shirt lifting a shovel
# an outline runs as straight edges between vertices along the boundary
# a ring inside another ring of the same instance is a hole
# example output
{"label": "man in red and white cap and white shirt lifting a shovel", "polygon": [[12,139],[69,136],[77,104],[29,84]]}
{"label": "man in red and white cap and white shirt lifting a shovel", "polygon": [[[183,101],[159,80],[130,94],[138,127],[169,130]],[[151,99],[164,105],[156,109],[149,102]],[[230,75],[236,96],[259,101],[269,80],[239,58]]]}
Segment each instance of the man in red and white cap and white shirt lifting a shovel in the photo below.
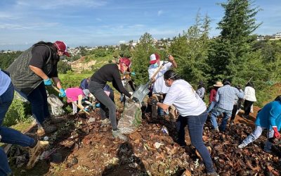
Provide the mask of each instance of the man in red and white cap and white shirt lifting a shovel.
{"label": "man in red and white cap and white shirt lifting a shovel", "polygon": [[[150,79],[152,78],[152,75],[154,75],[154,73],[158,70],[158,68],[163,64],[163,62],[164,61],[160,61],[159,54],[155,53],[150,55],[150,66],[148,68],[148,74]],[[152,96],[154,96],[155,99],[157,99],[159,102],[164,100],[166,93],[169,91],[169,87],[167,87],[164,82],[164,73],[170,68],[177,67],[178,65],[176,64],[174,57],[169,55],[169,63],[166,63],[163,68],[159,71],[159,73],[157,73],[155,78],[152,80]],[[170,119],[175,119],[174,110],[174,106],[169,108]],[[152,106],[152,118],[157,118],[157,115],[157,106]]]}

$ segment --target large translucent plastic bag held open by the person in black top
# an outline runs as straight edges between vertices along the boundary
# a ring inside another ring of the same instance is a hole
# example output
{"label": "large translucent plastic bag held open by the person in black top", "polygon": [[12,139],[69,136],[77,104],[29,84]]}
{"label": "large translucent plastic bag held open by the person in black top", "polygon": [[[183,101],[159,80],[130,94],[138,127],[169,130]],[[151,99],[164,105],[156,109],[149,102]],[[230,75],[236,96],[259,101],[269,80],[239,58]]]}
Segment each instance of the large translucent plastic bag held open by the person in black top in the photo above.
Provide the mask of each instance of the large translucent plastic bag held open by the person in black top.
{"label": "large translucent plastic bag held open by the person in black top", "polygon": [[123,113],[118,122],[118,129],[122,134],[131,134],[141,125],[141,104],[135,103],[131,99],[126,99]]}

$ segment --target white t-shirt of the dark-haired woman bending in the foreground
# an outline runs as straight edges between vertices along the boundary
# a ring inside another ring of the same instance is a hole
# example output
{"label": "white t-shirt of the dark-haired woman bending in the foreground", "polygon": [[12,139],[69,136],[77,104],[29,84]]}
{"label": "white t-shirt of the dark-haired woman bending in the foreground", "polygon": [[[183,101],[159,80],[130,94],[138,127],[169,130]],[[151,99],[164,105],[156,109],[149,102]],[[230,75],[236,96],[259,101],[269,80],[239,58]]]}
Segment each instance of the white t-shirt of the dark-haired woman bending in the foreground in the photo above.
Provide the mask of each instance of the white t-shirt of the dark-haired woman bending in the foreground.
{"label": "white t-shirt of the dark-haired woman bending in the foreground", "polygon": [[200,115],[207,109],[204,101],[185,80],[174,80],[163,103],[169,106],[174,105],[183,117]]}

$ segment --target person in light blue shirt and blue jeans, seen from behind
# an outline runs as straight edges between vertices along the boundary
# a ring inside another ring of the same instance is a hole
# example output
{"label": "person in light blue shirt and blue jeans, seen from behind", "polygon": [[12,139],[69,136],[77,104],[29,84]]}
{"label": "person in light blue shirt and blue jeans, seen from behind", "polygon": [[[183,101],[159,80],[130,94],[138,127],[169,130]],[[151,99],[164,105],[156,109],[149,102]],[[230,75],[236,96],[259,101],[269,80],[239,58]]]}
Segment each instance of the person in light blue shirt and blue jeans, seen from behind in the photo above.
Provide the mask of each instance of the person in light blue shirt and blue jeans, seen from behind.
{"label": "person in light blue shirt and blue jeans, seen from behind", "polygon": [[[214,109],[211,111],[211,124],[216,132],[226,131],[228,118],[230,118],[233,111],[235,95],[240,99],[243,99],[244,97],[242,89],[238,90],[235,87],[231,87],[230,80],[224,79],[223,87],[220,87],[216,92],[216,107],[214,107]],[[220,127],[218,127],[216,117],[221,115],[221,113],[223,113],[223,120]]]}

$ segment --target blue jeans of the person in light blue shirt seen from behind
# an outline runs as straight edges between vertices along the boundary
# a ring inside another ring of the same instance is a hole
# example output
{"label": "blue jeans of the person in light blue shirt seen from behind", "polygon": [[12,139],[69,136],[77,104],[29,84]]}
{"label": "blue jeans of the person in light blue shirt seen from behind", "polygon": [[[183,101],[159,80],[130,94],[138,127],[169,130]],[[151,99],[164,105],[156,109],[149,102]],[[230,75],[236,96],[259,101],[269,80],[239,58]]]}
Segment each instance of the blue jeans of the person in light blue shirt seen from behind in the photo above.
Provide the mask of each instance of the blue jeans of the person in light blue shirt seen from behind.
{"label": "blue jeans of the person in light blue shirt seen from behind", "polygon": [[226,130],[226,124],[228,123],[228,118],[231,117],[233,111],[215,107],[211,111],[211,124],[213,125],[214,129],[218,128],[218,122],[216,122],[216,118],[218,117],[218,115],[221,115],[221,113],[223,113],[223,120],[219,128],[224,132]]}

